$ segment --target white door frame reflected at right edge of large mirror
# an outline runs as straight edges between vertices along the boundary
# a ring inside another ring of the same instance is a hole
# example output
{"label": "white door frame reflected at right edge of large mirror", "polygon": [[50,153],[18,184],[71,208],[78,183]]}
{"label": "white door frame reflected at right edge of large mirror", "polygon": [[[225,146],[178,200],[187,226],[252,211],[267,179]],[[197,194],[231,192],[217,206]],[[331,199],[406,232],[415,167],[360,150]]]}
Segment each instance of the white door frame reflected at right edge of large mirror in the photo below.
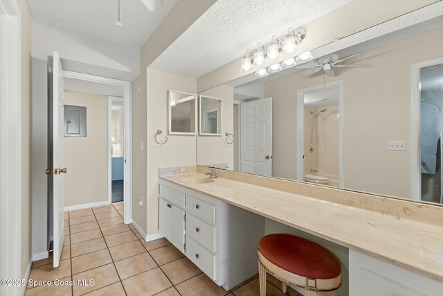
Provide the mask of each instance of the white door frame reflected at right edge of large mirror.
{"label": "white door frame reflected at right edge of large mirror", "polygon": [[410,65],[410,196],[422,200],[422,164],[420,155],[420,69],[443,64],[435,58]]}

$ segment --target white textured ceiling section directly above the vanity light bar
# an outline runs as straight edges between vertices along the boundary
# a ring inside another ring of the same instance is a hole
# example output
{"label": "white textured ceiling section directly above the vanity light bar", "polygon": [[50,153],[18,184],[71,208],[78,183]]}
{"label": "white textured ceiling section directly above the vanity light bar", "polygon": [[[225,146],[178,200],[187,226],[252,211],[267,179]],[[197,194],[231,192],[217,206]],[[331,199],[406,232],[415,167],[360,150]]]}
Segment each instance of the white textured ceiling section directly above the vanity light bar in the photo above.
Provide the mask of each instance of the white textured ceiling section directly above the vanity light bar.
{"label": "white textured ceiling section directly above the vanity light bar", "polygon": [[350,0],[218,0],[150,68],[199,78]]}

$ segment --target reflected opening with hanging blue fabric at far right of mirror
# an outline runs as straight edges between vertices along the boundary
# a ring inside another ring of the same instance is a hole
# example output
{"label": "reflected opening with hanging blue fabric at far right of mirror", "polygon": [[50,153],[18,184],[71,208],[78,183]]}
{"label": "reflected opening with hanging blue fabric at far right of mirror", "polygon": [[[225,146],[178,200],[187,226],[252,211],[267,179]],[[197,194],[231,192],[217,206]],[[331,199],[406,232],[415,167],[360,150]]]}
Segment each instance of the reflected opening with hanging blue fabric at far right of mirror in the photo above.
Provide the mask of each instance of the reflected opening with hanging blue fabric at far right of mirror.
{"label": "reflected opening with hanging blue fabric at far right of mirror", "polygon": [[443,64],[420,69],[419,77],[421,199],[442,203]]}

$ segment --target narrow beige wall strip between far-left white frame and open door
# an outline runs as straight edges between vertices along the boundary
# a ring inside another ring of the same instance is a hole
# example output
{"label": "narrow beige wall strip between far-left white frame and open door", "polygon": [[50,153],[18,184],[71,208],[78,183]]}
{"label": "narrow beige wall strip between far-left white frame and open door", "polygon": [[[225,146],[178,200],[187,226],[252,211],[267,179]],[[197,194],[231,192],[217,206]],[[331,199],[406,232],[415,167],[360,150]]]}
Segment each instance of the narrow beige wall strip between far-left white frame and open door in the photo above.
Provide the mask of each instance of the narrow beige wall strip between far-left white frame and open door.
{"label": "narrow beige wall strip between far-left white frame and open door", "polygon": [[[30,211],[30,76],[31,15],[28,2],[17,1],[21,26],[21,278],[25,279],[31,259]],[[3,238],[6,239],[6,238]]]}

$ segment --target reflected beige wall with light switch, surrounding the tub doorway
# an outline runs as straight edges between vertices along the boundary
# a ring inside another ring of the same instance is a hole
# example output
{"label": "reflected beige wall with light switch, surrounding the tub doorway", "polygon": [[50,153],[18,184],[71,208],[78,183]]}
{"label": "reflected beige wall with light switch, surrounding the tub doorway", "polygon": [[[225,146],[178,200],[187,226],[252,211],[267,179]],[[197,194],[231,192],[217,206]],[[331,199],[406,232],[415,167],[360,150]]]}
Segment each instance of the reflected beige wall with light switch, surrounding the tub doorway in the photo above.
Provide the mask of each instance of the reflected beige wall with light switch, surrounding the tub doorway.
{"label": "reflected beige wall with light switch, surrounding the tub doorway", "polygon": [[[437,28],[372,49],[352,60],[363,67],[326,76],[326,82],[344,82],[346,188],[410,198],[410,151],[388,151],[388,141],[414,145],[410,143],[410,64],[442,56],[442,35],[443,28]],[[275,177],[296,178],[297,89],[322,84],[323,76],[300,73],[265,83],[265,96],[273,97]],[[285,145],[279,145],[282,142]]]}

